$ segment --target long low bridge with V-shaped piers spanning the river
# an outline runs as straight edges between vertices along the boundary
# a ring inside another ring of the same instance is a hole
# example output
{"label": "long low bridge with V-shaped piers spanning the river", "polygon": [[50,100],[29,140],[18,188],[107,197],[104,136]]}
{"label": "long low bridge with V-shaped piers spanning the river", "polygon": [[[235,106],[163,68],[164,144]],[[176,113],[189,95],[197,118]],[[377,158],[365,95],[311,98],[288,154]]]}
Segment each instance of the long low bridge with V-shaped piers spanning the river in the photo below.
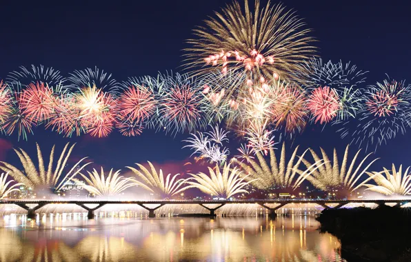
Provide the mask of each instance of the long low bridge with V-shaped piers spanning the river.
{"label": "long low bridge with V-shaped piers spanning the river", "polygon": [[[173,204],[173,205],[201,205],[206,210],[210,211],[210,216],[215,216],[215,211],[221,208],[223,205],[226,204],[257,204],[261,207],[268,210],[268,213],[272,218],[275,218],[277,214],[275,213],[276,210],[283,208],[285,205],[294,203],[294,204],[317,204],[321,205],[325,209],[332,209],[332,208],[342,208],[344,205],[349,203],[375,203],[377,205],[385,205],[386,203],[392,203],[394,206],[401,207],[401,205],[405,205],[409,203],[411,199],[385,199],[385,200],[378,200],[378,199],[363,199],[363,200],[323,200],[323,199],[248,199],[248,200],[147,200],[147,201],[106,201],[106,200],[43,200],[43,199],[28,199],[28,200],[1,200],[0,205],[3,204],[13,204],[18,205],[20,208],[27,210],[28,218],[35,219],[36,217],[36,210],[43,208],[45,205],[49,204],[75,204],[79,205],[81,208],[87,210],[88,218],[94,219],[94,211],[98,210],[99,208],[103,207],[103,205],[109,204],[134,204],[139,205],[141,208],[148,210],[148,217],[155,217],[154,211],[158,208],[161,208],[163,205]],[[30,208],[28,205],[30,204],[37,204],[33,208]],[[97,204],[94,208],[89,208],[88,204]],[[158,205],[155,208],[149,208],[147,205],[156,204]],[[217,207],[210,208],[206,205],[208,204],[217,204]],[[269,204],[277,204],[274,208],[268,206]],[[332,206],[330,204],[337,204]]]}

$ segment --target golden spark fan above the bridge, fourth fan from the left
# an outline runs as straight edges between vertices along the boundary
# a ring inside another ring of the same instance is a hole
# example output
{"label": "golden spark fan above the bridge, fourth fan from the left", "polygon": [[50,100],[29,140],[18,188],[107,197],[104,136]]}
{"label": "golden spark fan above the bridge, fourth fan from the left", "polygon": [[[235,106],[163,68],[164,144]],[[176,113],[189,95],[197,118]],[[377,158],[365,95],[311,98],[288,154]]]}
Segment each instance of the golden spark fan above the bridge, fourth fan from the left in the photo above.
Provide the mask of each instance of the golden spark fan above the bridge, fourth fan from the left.
{"label": "golden spark fan above the bridge, fourth fan from the left", "polygon": [[179,192],[183,192],[186,190],[187,187],[183,187],[186,183],[187,179],[177,179],[180,174],[168,174],[166,177],[166,181],[164,181],[163,170],[160,169],[160,172],[157,173],[157,170],[154,168],[154,165],[148,161],[150,165],[151,173],[147,168],[144,168],[143,165],[137,163],[140,170],[136,168],[132,168],[128,166],[130,170],[134,174],[137,175],[137,179],[133,179],[134,183],[141,186],[154,194],[159,194],[161,198],[170,198],[174,194],[178,194]]}

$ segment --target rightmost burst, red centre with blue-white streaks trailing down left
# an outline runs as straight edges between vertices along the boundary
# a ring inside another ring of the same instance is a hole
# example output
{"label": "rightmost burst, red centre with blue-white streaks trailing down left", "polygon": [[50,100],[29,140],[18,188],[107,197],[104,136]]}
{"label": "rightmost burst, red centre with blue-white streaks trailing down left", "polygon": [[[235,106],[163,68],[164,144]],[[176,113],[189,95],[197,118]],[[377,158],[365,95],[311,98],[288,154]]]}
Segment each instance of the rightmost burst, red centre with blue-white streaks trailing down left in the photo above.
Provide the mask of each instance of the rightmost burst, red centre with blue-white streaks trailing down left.
{"label": "rightmost burst, red centre with blue-white streaks trailing down left", "polygon": [[365,151],[382,143],[387,143],[398,132],[404,134],[410,125],[411,85],[405,82],[390,81],[371,85],[363,98],[358,121],[343,124],[339,129],[341,137],[352,137],[351,143],[365,147]]}

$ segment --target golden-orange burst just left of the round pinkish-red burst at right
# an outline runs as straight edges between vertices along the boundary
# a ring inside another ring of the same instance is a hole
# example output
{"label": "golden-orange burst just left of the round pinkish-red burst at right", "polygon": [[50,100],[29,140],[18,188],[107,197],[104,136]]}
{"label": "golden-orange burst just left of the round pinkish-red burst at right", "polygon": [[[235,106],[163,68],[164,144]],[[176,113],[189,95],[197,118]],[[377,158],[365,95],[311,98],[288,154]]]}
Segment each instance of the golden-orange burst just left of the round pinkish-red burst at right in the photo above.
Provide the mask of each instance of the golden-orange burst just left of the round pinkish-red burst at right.
{"label": "golden-orange burst just left of the round pinkish-red burst at right", "polygon": [[272,106],[272,119],[277,127],[285,125],[286,132],[301,130],[308,117],[305,93],[296,85],[279,85],[272,92],[275,103]]}

